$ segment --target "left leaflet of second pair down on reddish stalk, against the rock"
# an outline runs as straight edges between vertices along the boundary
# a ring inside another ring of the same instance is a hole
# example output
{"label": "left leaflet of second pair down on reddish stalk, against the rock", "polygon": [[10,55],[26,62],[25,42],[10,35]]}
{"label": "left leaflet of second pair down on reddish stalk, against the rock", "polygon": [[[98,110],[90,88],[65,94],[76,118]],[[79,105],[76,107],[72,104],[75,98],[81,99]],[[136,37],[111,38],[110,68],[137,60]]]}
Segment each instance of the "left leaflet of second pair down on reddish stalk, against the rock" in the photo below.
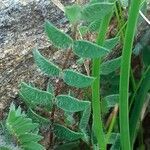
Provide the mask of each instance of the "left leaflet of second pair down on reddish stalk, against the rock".
{"label": "left leaflet of second pair down on reddish stalk, against the rock", "polygon": [[47,74],[48,76],[60,75],[61,69],[54,65],[52,62],[45,59],[37,49],[33,50],[33,56],[35,63],[43,73]]}

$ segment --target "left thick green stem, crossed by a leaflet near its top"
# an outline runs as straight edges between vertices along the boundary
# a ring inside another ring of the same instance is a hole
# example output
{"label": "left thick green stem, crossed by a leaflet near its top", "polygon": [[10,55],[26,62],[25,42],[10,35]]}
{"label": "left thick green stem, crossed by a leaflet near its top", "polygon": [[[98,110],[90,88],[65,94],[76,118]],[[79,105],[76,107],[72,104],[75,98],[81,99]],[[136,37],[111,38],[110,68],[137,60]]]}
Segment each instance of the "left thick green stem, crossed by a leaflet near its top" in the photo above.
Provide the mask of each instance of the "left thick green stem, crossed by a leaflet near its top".
{"label": "left thick green stem, crossed by a leaflet near its top", "polygon": [[[104,44],[110,18],[111,15],[109,14],[105,16],[101,22],[99,34],[96,40],[98,45],[103,46]],[[92,64],[92,75],[96,78],[92,85],[93,129],[98,141],[99,148],[101,148],[101,150],[106,150],[106,141],[103,131],[100,107],[100,63],[100,59],[94,59]]]}

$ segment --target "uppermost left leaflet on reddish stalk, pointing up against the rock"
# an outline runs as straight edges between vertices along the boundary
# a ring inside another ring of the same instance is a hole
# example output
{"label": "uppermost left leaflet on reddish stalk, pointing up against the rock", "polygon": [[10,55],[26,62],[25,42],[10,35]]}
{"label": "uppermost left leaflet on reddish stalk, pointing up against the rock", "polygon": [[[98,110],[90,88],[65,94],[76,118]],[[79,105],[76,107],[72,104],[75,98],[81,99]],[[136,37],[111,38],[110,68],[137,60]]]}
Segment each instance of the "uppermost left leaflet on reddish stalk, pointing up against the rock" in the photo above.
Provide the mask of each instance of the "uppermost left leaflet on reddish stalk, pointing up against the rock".
{"label": "uppermost left leaflet on reddish stalk, pointing up against the rock", "polygon": [[45,22],[45,32],[49,40],[58,48],[67,49],[72,45],[72,39],[67,34],[61,32],[49,21]]}

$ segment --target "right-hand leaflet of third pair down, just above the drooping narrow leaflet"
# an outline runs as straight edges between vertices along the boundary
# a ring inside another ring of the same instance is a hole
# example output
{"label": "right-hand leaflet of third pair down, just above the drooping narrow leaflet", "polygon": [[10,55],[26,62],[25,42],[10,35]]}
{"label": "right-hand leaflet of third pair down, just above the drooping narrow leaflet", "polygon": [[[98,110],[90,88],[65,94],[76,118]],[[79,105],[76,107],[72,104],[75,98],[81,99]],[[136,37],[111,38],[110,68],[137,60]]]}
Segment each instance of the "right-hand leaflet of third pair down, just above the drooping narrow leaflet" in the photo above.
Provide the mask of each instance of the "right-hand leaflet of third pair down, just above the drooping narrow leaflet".
{"label": "right-hand leaflet of third pair down, just above the drooping narrow leaflet", "polygon": [[56,97],[56,105],[67,112],[78,112],[90,107],[90,102],[82,101],[69,95],[59,95]]}

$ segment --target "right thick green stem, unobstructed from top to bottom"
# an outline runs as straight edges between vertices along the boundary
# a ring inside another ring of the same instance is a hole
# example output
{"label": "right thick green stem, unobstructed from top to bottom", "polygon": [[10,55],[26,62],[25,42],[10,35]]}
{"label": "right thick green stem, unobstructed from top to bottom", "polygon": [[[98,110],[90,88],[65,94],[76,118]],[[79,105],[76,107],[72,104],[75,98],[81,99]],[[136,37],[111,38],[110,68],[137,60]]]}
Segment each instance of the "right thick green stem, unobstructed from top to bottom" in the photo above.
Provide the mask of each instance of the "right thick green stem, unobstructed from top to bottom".
{"label": "right thick green stem, unobstructed from top to bottom", "polygon": [[125,41],[122,52],[120,87],[119,87],[119,106],[120,106],[120,133],[122,150],[131,150],[129,133],[129,77],[130,64],[134,34],[138,19],[141,0],[132,0],[129,11],[128,24],[125,34]]}

